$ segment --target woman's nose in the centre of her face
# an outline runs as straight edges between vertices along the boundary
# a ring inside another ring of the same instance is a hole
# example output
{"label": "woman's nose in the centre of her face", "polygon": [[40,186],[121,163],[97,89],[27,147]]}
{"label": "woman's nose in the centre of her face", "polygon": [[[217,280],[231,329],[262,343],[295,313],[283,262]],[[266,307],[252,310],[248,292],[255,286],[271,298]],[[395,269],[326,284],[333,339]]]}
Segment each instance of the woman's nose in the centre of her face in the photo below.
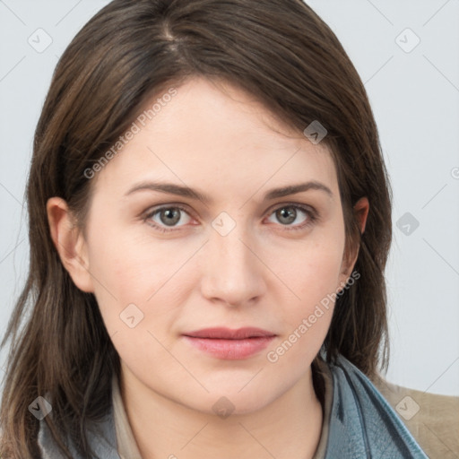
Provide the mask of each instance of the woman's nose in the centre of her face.
{"label": "woman's nose in the centre of her face", "polygon": [[226,236],[212,230],[201,254],[204,298],[227,306],[244,306],[261,298],[268,271],[261,252],[242,225],[236,225]]}

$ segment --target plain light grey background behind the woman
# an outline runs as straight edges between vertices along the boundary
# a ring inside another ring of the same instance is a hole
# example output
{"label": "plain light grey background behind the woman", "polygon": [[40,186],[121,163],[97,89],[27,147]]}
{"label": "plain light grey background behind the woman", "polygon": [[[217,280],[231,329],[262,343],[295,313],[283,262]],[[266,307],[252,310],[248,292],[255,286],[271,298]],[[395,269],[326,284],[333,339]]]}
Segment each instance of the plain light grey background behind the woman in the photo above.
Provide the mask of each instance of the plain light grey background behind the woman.
{"label": "plain light grey background behind the woman", "polygon": [[[39,112],[58,56],[107,3],[0,0],[2,334],[27,271],[22,203]],[[394,188],[387,378],[459,395],[459,1],[308,4],[342,41],[365,82]],[[52,43],[38,52],[46,34]]]}

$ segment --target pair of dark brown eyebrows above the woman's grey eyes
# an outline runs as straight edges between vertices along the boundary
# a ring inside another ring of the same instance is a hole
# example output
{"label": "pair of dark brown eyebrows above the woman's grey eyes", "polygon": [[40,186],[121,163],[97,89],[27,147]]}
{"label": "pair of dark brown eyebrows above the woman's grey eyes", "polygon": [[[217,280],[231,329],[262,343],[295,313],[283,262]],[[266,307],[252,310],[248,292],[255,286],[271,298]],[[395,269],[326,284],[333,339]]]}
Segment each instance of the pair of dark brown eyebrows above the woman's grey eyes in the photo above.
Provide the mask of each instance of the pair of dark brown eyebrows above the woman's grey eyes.
{"label": "pair of dark brown eyebrows above the woman's grey eyes", "polygon": [[[198,191],[197,189],[190,188],[189,186],[180,186],[174,183],[166,182],[141,182],[127,191],[126,195],[132,195],[138,191],[160,191],[161,193],[168,193],[169,195],[178,195],[183,197],[189,197],[192,199],[198,199],[205,204],[212,203],[213,200],[209,195],[206,195],[203,192]],[[276,199],[278,197],[295,195],[297,193],[305,192],[308,190],[318,190],[323,191],[330,197],[333,197],[332,190],[324,185],[323,183],[317,182],[315,180],[300,183],[297,185],[281,186],[279,188],[273,188],[264,195],[264,201],[269,201]]]}

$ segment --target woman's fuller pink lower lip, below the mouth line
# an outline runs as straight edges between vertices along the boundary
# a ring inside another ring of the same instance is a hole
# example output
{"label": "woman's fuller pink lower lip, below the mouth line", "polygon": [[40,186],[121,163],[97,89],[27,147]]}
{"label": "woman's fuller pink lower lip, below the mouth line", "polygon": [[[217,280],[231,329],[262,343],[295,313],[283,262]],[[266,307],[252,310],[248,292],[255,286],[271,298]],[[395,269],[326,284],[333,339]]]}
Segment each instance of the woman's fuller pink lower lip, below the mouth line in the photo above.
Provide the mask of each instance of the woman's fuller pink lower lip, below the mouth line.
{"label": "woman's fuller pink lower lip, below the mouth line", "polygon": [[194,338],[184,336],[186,341],[200,351],[211,354],[218,359],[247,359],[259,351],[263,351],[274,336],[257,336],[244,340],[223,340],[217,338]]}

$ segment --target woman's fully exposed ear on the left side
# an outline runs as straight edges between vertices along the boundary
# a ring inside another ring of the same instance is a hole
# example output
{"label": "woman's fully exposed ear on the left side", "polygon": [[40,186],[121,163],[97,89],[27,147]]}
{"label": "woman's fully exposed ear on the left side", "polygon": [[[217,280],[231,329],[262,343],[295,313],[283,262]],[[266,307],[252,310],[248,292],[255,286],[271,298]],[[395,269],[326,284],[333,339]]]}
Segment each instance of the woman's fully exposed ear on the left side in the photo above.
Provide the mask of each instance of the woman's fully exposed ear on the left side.
{"label": "woman's fully exposed ear on the left side", "polygon": [[86,242],[65,200],[60,197],[48,199],[47,212],[51,238],[62,264],[80,290],[92,293]]}

